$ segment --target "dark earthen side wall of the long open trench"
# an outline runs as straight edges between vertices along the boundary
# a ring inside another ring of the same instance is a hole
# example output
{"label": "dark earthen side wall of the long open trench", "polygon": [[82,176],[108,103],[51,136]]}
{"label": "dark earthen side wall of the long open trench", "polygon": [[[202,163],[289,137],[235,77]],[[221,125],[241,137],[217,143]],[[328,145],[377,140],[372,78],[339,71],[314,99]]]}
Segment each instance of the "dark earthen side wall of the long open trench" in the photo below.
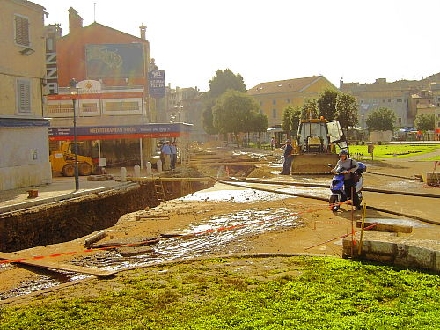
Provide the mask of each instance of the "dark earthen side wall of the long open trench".
{"label": "dark earthen side wall of the long open trench", "polygon": [[89,235],[130,212],[155,207],[152,184],[89,194],[0,215],[0,251],[14,252]]}

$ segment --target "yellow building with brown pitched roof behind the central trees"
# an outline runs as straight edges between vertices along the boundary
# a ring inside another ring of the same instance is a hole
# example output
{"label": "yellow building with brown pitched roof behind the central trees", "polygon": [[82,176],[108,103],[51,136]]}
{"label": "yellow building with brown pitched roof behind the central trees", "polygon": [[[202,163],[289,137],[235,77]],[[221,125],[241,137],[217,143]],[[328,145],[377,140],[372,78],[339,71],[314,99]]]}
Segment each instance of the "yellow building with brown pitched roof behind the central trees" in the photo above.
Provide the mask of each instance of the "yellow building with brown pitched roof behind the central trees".
{"label": "yellow building with brown pitched roof behind the central trees", "polygon": [[260,112],[267,116],[269,127],[276,127],[281,125],[286,107],[301,107],[326,89],[336,90],[336,87],[325,77],[313,76],[261,83],[247,94],[260,104]]}

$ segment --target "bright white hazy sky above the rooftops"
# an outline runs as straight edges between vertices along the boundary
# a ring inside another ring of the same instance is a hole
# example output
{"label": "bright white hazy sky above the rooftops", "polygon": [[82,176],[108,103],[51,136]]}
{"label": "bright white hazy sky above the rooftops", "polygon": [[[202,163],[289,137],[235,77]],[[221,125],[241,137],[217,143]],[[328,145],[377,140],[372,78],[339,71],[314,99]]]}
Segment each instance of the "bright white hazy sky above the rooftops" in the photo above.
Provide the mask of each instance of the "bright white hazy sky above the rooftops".
{"label": "bright white hazy sky above the rooftops", "polygon": [[31,0],[69,33],[84,19],[140,37],[172,88],[209,90],[217,70],[259,83],[322,75],[345,83],[440,72],[438,0]]}

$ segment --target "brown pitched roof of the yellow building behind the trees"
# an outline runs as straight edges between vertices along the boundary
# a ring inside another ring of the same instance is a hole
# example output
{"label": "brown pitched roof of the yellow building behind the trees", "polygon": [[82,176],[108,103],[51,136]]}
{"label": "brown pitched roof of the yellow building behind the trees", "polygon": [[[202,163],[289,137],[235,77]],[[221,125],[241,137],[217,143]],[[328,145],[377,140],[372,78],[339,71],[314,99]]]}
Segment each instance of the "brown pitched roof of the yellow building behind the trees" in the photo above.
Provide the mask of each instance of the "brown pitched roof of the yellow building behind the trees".
{"label": "brown pitched roof of the yellow building behind the trees", "polygon": [[271,94],[282,92],[303,92],[307,87],[313,85],[318,80],[326,79],[322,76],[312,76],[278,80],[260,83],[247,91],[249,95]]}

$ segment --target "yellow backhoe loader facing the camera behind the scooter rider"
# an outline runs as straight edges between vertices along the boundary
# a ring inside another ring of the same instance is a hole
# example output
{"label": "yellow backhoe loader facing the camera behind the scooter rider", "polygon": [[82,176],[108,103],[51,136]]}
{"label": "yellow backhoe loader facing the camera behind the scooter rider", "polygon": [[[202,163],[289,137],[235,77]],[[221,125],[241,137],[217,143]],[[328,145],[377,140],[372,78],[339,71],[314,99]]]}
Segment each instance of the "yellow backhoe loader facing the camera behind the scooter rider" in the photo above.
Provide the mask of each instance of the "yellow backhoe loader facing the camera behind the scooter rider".
{"label": "yellow backhoe loader facing the camera behind the scooter rider", "polygon": [[[293,144],[292,174],[330,173],[329,164],[336,165],[339,149],[347,149],[345,135],[338,121],[319,119],[301,120]],[[332,167],[332,168],[333,168]]]}

